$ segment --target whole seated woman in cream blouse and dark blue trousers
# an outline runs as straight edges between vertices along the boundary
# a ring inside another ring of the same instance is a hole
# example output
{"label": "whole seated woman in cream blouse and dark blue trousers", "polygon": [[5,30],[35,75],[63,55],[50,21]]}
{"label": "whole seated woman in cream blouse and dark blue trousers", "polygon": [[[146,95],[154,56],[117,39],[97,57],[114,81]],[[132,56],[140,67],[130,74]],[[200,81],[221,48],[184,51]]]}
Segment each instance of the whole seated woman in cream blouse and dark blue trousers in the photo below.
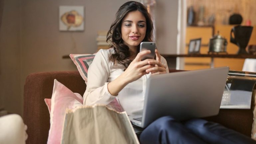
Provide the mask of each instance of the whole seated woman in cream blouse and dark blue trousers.
{"label": "whole seated woman in cream blouse and dark blue trousers", "polygon": [[[84,94],[86,105],[107,105],[116,99],[128,115],[142,114],[147,77],[168,72],[166,60],[157,50],[155,60],[141,61],[141,58],[150,51],[139,52],[139,44],[151,42],[152,31],[150,15],[141,3],[129,1],[119,8],[116,20],[107,35],[113,49],[100,50],[89,67],[87,89]],[[216,127],[217,134],[213,136],[216,129],[212,132],[211,128]],[[240,142],[241,139],[242,142],[247,140],[245,143],[255,142],[215,123],[196,119],[182,124],[170,116],[159,118],[150,124],[141,133],[140,142],[232,143],[232,140],[216,141],[219,136],[227,133],[235,135],[235,142]]]}

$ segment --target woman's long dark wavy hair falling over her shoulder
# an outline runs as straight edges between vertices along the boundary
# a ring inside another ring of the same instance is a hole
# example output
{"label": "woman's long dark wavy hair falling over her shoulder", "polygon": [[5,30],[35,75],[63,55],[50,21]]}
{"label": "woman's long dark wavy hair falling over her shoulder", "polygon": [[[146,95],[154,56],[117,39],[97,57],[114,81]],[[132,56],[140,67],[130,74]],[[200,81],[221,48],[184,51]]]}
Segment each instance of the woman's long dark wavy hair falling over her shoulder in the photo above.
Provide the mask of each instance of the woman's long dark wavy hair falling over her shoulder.
{"label": "woman's long dark wavy hair falling over her shoulder", "polygon": [[[153,23],[150,14],[146,7],[135,1],[129,1],[123,4],[116,13],[116,20],[112,23],[110,30],[107,33],[107,41],[111,41],[110,47],[114,48],[115,53],[110,56],[110,61],[114,64],[121,64],[127,69],[132,59],[130,59],[130,52],[127,45],[124,44],[121,33],[121,25],[123,18],[132,11],[139,11],[146,18],[146,34],[142,42],[152,42]],[[137,49],[138,53],[139,49]]]}

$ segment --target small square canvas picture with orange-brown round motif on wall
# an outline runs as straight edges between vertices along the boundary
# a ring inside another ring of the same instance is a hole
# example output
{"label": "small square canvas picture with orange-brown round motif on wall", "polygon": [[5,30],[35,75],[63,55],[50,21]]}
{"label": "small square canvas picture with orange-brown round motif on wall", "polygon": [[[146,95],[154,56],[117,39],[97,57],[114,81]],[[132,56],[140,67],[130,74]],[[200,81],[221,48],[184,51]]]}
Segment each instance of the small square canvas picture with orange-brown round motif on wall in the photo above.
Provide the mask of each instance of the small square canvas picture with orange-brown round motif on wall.
{"label": "small square canvas picture with orange-brown round motif on wall", "polygon": [[84,6],[60,6],[59,30],[84,31]]}

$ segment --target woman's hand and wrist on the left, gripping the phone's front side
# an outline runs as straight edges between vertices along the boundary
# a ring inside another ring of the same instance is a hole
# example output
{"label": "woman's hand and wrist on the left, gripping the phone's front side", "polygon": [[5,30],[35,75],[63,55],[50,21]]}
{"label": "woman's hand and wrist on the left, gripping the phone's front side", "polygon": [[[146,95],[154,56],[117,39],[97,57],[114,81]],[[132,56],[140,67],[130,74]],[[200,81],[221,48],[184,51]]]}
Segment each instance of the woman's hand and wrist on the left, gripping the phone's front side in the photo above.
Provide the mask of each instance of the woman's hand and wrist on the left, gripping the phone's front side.
{"label": "woman's hand and wrist on the left, gripping the phone's front side", "polygon": [[141,58],[147,54],[150,54],[149,50],[139,52],[135,59],[130,63],[126,71],[122,74],[122,76],[127,79],[128,83],[139,79],[144,74],[149,73],[146,72],[147,69],[155,67],[154,65],[148,64],[148,61],[153,59],[141,61]]}

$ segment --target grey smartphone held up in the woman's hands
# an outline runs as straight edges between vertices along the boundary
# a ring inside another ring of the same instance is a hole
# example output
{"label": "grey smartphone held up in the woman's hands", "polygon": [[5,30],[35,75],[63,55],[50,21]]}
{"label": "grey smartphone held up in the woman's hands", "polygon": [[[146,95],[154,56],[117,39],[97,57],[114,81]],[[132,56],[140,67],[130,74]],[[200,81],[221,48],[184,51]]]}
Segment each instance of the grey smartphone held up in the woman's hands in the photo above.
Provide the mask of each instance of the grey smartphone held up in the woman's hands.
{"label": "grey smartphone held up in the woman's hands", "polygon": [[143,56],[141,58],[141,61],[146,60],[146,59],[154,59],[155,58],[155,43],[154,42],[141,42],[139,52],[145,51],[145,50],[150,50],[151,53]]}

